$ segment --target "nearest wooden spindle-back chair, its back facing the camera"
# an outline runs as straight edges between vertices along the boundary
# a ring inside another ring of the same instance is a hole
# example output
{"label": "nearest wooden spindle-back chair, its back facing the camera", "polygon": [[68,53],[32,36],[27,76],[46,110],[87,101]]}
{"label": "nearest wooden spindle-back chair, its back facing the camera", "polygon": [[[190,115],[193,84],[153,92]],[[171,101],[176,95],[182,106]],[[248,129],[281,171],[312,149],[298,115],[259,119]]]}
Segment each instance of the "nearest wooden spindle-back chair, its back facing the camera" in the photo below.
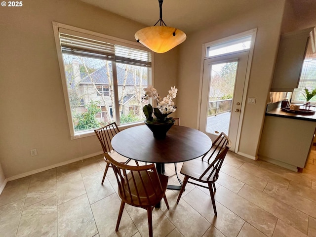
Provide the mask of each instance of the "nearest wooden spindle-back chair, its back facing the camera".
{"label": "nearest wooden spindle-back chair, its back facing the camera", "polygon": [[163,198],[167,208],[169,204],[165,195],[168,176],[158,174],[155,164],[131,166],[115,161],[105,154],[107,162],[111,163],[118,181],[118,195],[121,204],[115,231],[118,231],[125,203],[147,210],[149,236],[153,236],[152,211]]}

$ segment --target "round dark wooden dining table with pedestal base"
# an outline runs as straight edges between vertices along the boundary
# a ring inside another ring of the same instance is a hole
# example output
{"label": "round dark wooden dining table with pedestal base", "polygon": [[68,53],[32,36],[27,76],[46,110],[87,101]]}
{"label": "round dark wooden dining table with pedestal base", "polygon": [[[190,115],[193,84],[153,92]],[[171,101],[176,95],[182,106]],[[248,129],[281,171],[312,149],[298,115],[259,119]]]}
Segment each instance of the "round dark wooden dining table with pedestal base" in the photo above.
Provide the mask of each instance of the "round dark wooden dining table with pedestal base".
{"label": "round dark wooden dining table with pedestal base", "polygon": [[212,141],[197,129],[177,125],[170,128],[165,139],[158,140],[146,125],[140,125],[120,131],[111,145],[126,158],[156,163],[157,172],[164,174],[165,163],[203,156],[211,149]]}

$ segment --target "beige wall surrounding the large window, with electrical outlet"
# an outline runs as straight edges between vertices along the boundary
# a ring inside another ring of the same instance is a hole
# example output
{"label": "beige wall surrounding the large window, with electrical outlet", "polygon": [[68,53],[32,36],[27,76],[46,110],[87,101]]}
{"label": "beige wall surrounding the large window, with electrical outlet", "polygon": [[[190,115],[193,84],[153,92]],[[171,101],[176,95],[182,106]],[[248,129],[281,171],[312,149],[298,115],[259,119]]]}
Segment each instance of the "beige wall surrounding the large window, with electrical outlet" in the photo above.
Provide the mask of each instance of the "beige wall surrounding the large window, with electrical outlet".
{"label": "beige wall surrounding the large window, with electrical outlet", "polygon": [[[0,162],[6,178],[101,152],[95,136],[71,140],[52,21],[135,40],[144,27],[74,0],[27,0],[0,14]],[[155,86],[176,83],[177,50],[155,54]],[[38,156],[31,157],[30,149]]]}

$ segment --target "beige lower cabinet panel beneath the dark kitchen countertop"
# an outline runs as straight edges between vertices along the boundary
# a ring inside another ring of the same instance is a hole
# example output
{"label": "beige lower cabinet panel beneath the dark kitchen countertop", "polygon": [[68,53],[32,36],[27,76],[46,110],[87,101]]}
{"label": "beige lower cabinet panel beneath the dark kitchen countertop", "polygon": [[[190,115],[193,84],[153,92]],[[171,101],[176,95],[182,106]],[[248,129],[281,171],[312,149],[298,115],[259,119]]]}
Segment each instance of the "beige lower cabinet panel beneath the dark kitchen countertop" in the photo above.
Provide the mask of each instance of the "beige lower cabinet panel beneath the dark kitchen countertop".
{"label": "beige lower cabinet panel beneath the dark kitchen countertop", "polygon": [[316,121],[266,116],[258,157],[293,171],[304,168],[315,128]]}

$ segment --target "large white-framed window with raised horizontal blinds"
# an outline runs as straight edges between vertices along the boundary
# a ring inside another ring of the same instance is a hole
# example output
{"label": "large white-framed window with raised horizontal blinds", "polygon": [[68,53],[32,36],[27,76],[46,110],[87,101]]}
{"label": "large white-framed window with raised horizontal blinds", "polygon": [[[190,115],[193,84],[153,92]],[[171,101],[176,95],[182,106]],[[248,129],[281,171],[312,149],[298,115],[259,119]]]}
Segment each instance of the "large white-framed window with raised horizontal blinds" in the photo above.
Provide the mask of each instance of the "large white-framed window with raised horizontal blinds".
{"label": "large white-framed window with raised horizontal blinds", "polygon": [[134,42],[53,25],[72,137],[113,121],[144,120],[138,111],[151,83],[151,52]]}

